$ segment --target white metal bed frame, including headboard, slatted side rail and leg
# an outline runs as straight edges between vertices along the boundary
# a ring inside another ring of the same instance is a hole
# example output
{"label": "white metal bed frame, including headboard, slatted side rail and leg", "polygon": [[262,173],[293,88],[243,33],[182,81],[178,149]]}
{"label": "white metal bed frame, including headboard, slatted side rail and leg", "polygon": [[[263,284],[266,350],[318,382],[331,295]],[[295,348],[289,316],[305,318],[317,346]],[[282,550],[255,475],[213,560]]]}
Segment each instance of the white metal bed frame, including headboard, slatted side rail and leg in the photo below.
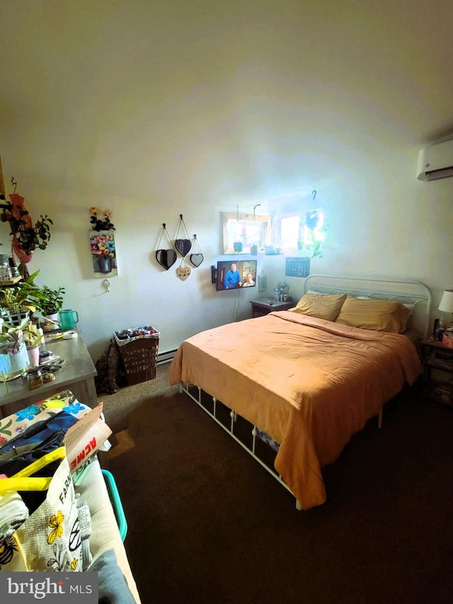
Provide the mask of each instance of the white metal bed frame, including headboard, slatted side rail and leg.
{"label": "white metal bed frame, including headboard, slatted side rail and leg", "polygon": [[[331,283],[328,283],[331,281]],[[379,284],[379,285],[377,285]],[[427,285],[418,281],[394,281],[386,279],[364,279],[355,277],[342,277],[338,275],[310,275],[304,282],[304,293],[308,290],[313,290],[320,293],[331,293],[331,294],[348,294],[352,296],[363,296],[369,297],[374,300],[395,300],[403,304],[413,305],[413,317],[414,327],[418,331],[421,337],[425,338],[428,336],[431,324],[431,309],[432,309],[432,292]],[[393,291],[392,291],[393,290]],[[296,302],[294,303],[294,305]],[[190,397],[195,403],[207,413],[221,428],[231,436],[236,443],[239,443],[241,447],[248,452],[265,470],[268,472],[277,482],[280,482],[282,486],[294,496],[294,493],[289,486],[282,479],[280,474],[275,472],[274,469],[270,468],[256,455],[256,438],[258,427],[253,426],[252,434],[252,445],[249,448],[245,443],[240,440],[234,433],[234,425],[237,419],[236,411],[230,411],[230,423],[229,426],[225,426],[222,421],[217,417],[217,398],[212,397],[212,411],[202,404],[202,389],[195,384],[193,386],[197,389],[197,396],[190,392],[190,385],[188,382],[180,383],[180,392]],[[382,427],[382,408],[379,411],[378,428]],[[295,498],[295,496],[294,496]],[[302,506],[296,498],[297,510],[302,510]]]}

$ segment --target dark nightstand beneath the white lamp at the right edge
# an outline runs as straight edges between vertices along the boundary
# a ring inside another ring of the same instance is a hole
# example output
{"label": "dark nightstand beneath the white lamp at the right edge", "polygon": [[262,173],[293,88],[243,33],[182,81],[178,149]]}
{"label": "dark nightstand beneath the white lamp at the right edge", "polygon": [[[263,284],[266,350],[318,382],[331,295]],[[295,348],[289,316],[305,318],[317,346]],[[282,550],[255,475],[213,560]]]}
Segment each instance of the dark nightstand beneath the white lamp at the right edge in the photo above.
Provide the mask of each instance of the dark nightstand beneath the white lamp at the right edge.
{"label": "dark nightstand beneath the white lamp at the right edge", "polygon": [[453,349],[432,339],[422,342],[423,396],[453,406]]}

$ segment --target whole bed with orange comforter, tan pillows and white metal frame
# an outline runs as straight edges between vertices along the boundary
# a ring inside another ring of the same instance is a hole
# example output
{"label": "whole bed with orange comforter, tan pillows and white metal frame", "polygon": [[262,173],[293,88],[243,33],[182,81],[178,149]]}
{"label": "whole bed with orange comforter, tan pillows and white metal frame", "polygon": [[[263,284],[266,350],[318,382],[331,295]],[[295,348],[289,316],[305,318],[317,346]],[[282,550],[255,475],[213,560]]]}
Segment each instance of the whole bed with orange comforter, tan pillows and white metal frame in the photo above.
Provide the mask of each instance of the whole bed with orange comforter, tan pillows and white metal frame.
{"label": "whole bed with orange comforter, tan pillows and white metal frame", "polygon": [[[326,501],[322,468],[417,380],[417,343],[428,334],[431,305],[423,283],[311,275],[294,309],[188,338],[168,377],[306,510]],[[379,316],[385,329],[368,312],[375,307],[385,309]],[[212,397],[212,409],[202,404],[202,393]],[[217,401],[231,410],[229,425],[217,419]],[[253,426],[250,446],[234,434],[237,416]],[[277,452],[275,468],[255,455],[256,438]]]}

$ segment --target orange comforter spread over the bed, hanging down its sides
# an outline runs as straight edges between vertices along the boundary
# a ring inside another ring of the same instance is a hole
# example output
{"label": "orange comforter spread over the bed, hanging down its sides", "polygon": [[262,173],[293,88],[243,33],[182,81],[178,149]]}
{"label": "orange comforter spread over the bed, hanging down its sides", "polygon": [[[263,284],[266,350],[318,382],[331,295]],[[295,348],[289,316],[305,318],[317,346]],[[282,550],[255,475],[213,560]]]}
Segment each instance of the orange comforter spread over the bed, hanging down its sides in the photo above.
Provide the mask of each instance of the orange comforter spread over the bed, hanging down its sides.
{"label": "orange comforter spread over the bed, hanging down its sides", "polygon": [[321,467],[420,372],[406,336],[282,311],[188,338],[169,380],[199,386],[277,440],[275,469],[308,509],[326,501]]}

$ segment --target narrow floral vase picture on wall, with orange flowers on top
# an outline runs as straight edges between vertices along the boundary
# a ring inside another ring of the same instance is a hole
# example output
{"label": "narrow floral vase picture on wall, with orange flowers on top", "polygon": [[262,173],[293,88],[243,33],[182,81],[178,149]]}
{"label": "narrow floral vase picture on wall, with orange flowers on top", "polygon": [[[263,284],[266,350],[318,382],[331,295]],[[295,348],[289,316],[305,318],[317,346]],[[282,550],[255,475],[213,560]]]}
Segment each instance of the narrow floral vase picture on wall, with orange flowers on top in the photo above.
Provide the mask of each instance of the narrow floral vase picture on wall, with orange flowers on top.
{"label": "narrow floral vase picture on wall, with orange flowers on top", "polygon": [[90,208],[91,231],[90,239],[91,261],[95,277],[114,277],[118,274],[115,226],[110,221],[112,212],[101,210],[98,207]]}

